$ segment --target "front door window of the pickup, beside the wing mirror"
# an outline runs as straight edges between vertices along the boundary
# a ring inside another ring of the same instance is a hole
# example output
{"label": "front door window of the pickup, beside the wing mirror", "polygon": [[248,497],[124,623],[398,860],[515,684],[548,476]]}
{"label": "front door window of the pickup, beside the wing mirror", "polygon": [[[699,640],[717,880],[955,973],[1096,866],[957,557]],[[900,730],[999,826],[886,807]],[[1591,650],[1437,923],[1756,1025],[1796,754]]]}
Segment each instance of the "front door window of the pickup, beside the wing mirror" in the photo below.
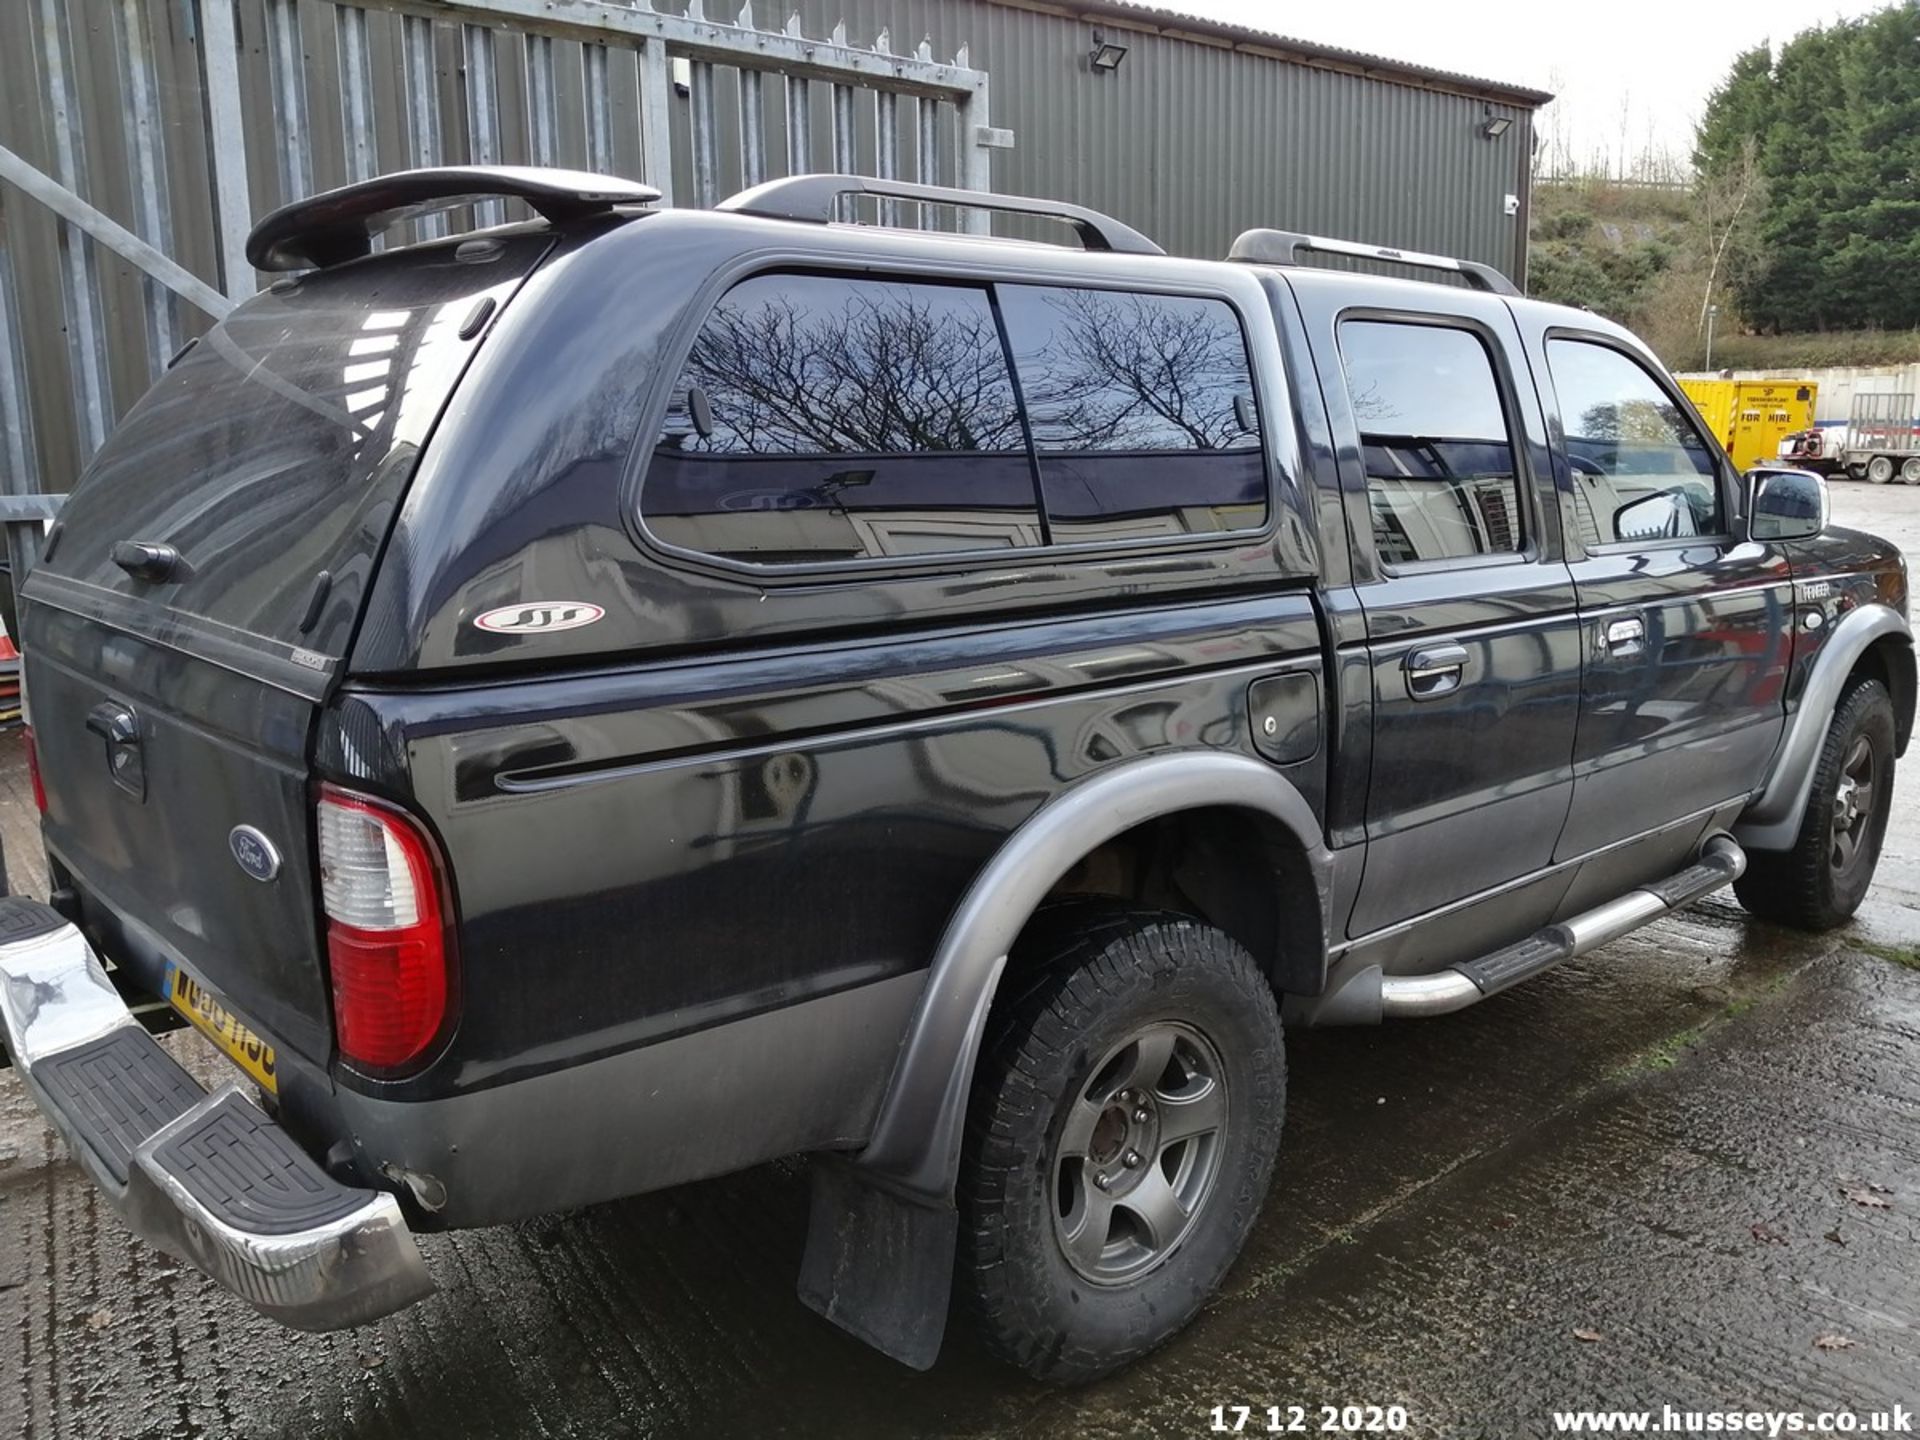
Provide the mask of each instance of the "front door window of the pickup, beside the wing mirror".
{"label": "front door window of the pickup, beside the wing mirror", "polygon": [[1607,346],[1549,340],[1548,369],[1588,545],[1726,530],[1707,442],[1640,361]]}

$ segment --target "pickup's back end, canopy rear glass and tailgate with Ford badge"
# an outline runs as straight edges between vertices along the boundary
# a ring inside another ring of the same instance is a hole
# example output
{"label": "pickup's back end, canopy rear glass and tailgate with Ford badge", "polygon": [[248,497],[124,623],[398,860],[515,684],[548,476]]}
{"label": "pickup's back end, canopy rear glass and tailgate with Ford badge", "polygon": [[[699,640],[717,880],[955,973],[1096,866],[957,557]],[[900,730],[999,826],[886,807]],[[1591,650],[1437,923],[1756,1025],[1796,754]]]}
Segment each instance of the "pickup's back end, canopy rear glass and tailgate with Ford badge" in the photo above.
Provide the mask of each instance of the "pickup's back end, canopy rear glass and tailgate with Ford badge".
{"label": "pickup's back end, canopy rear glass and tailgate with Ford badge", "polygon": [[23,591],[44,835],[88,929],[311,1058],[330,1046],[311,720],[430,428],[547,246],[401,252],[255,296],[127,415]]}

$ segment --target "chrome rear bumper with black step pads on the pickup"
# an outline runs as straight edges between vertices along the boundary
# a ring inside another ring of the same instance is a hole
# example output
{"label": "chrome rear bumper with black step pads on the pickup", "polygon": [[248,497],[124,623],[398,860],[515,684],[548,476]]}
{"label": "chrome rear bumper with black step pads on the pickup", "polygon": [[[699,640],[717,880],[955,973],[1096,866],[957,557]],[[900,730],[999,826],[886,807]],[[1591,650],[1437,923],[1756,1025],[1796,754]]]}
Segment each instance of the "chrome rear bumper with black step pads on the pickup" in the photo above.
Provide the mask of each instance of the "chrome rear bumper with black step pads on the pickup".
{"label": "chrome rear bumper with black step pads on the pickup", "polygon": [[60,914],[0,899],[0,1023],[29,1094],[127,1225],[301,1331],[432,1294],[382,1190],[340,1185],[238,1087],[207,1094]]}

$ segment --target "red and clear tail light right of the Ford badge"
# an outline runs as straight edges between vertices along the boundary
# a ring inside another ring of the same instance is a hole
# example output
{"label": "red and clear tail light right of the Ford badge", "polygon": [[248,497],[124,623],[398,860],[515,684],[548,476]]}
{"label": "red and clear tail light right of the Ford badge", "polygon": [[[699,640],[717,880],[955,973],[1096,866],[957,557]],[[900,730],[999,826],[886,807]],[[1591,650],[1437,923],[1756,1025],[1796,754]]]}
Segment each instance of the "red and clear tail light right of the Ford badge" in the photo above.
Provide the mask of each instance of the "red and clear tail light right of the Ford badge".
{"label": "red and clear tail light right of the Ford badge", "polygon": [[451,906],[440,860],[411,818],[332,785],[315,820],[340,1054],[401,1069],[447,1020]]}

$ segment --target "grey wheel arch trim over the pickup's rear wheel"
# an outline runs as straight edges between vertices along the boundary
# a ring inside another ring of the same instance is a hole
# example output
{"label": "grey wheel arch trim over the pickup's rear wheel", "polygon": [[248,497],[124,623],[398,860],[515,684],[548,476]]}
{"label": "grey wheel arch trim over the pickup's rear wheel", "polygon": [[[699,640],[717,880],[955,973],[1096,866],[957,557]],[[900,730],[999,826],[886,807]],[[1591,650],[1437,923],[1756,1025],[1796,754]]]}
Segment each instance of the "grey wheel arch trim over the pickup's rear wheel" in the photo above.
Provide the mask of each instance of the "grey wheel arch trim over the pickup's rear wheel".
{"label": "grey wheel arch trim over the pickup's rear wheel", "polygon": [[952,1204],[973,1064],[1016,937],[1096,845],[1160,816],[1217,806],[1263,814],[1300,845],[1325,937],[1332,856],[1311,806],[1269,764],[1225,751],[1179,751],[1089,776],[1016,829],[954,910],[872,1140],[854,1160],[860,1171],[922,1202]]}

